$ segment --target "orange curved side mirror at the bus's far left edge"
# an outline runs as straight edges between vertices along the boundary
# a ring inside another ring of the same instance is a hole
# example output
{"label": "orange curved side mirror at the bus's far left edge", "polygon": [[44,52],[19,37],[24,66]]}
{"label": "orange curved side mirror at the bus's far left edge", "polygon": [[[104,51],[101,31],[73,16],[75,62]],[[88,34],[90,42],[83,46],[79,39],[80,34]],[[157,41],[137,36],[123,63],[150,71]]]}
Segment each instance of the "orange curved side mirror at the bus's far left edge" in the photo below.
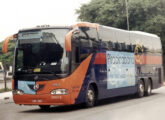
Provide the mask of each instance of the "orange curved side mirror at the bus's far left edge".
{"label": "orange curved side mirror at the bus's far left edge", "polygon": [[10,42],[10,40],[17,38],[17,34],[11,35],[9,37],[7,37],[4,42],[3,42],[3,46],[2,46],[2,52],[3,54],[6,54],[8,51],[8,44]]}

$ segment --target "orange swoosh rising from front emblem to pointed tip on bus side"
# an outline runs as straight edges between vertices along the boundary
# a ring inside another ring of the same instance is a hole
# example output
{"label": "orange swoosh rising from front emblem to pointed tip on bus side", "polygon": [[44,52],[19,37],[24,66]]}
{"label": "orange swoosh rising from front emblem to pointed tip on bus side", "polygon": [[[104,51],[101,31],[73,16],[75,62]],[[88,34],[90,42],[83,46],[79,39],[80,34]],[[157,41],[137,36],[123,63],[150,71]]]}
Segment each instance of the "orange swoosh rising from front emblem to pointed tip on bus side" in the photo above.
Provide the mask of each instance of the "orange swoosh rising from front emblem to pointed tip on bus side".
{"label": "orange swoosh rising from front emblem to pointed tip on bus side", "polygon": [[36,84],[45,84],[45,87],[42,90],[38,91],[37,95],[50,94],[50,92],[54,89],[65,88],[69,90],[69,94],[71,95],[70,103],[74,104],[75,99],[78,97],[82,84],[84,82],[91,58],[92,54],[89,57],[87,57],[70,76],[66,78],[36,82]]}

